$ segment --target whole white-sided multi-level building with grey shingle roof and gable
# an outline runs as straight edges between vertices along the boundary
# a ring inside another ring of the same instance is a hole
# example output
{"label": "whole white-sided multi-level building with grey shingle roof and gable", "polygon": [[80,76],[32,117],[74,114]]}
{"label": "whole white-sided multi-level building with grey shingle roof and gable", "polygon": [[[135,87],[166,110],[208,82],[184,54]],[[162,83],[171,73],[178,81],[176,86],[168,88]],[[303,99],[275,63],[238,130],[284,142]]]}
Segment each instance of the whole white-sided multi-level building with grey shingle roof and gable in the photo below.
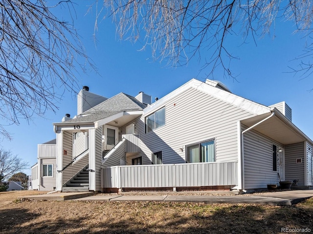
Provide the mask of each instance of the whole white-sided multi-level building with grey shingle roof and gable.
{"label": "whole white-sided multi-level building with grey shingle roof and gable", "polygon": [[265,106],[221,82],[192,79],[154,103],[143,92],[108,99],[85,87],[77,108],[77,116],[53,124],[56,166],[46,163],[57,191],[312,186],[313,142],[285,102]]}

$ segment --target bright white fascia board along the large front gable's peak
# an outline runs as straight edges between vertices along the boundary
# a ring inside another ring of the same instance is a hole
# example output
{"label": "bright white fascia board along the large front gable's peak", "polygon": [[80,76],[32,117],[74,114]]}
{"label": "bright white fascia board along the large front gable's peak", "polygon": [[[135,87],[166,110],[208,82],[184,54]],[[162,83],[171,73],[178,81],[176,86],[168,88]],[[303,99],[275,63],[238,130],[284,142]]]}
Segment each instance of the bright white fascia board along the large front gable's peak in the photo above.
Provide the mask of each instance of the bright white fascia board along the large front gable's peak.
{"label": "bright white fascia board along the large front gable's peak", "polygon": [[237,96],[235,94],[229,93],[227,91],[221,90],[219,88],[213,87],[209,84],[206,84],[202,81],[199,81],[197,79],[191,79],[187,83],[180,86],[178,89],[174,90],[173,92],[169,93],[168,95],[164,96],[163,98],[160,98],[155,103],[151,104],[147,108],[143,110],[143,115],[149,114],[150,112],[154,111],[161,105],[164,105],[166,101],[168,101],[171,98],[174,98],[175,96],[179,95],[183,91],[187,90],[188,88],[195,88],[197,90],[200,90],[206,94],[209,94],[215,98],[219,98],[221,100],[224,100],[225,102],[228,102],[232,105],[235,105],[239,108],[242,108],[246,110],[247,112],[250,112],[255,115],[262,115],[265,113],[270,113],[270,108],[265,105],[261,105],[259,103],[250,101],[246,98],[242,98],[240,96]]}

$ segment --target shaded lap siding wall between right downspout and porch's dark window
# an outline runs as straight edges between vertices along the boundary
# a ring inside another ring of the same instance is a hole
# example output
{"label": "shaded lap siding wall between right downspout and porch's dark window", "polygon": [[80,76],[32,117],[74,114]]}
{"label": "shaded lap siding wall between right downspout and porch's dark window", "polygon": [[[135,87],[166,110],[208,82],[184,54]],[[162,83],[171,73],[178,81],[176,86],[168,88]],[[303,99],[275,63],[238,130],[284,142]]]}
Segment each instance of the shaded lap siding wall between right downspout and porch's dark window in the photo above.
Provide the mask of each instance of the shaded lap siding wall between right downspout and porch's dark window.
{"label": "shaded lap siding wall between right downspout and porch's dark window", "polygon": [[267,188],[268,184],[278,184],[278,171],[272,170],[273,144],[276,143],[253,130],[244,134],[245,189]]}

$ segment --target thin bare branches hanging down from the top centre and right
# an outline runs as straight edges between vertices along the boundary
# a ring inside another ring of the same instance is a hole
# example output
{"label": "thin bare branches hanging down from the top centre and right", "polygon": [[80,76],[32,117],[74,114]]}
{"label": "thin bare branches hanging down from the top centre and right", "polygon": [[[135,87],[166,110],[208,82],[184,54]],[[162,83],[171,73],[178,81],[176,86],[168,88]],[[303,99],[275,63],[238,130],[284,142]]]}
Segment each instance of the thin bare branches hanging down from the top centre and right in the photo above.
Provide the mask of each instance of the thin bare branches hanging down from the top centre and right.
{"label": "thin bare branches hanging down from the top centre and right", "polygon": [[[209,70],[210,75],[222,66],[225,75],[232,78],[230,60],[236,57],[225,43],[230,35],[242,35],[243,42],[252,37],[256,43],[256,37],[270,33],[276,19],[291,20],[297,32],[312,33],[311,1],[97,0],[95,5],[95,30],[99,19],[108,16],[106,9],[117,23],[119,37],[143,39],[143,48],[151,46],[154,59],[176,66],[202,56],[202,69]],[[312,49],[309,51],[312,56]],[[311,64],[302,65],[311,68]]]}

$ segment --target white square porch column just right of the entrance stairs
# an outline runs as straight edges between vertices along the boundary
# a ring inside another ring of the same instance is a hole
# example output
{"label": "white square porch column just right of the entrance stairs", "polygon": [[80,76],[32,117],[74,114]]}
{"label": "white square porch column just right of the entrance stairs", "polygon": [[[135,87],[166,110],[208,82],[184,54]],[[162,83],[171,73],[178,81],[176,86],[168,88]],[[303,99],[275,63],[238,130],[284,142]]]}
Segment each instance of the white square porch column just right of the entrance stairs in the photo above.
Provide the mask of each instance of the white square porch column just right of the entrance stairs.
{"label": "white square porch column just right of the entrance stairs", "polygon": [[96,191],[95,129],[89,129],[89,190]]}

